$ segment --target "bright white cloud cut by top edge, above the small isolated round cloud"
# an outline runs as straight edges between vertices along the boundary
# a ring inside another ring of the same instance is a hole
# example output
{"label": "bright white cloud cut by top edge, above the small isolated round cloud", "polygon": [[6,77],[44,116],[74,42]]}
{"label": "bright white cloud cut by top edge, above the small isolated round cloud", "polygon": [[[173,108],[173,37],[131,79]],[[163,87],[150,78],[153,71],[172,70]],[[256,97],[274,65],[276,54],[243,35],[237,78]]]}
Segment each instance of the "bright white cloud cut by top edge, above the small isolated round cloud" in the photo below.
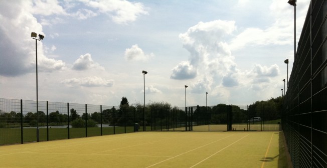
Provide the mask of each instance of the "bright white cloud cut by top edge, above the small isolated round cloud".
{"label": "bright white cloud cut by top edge, above the small isolated round cloud", "polygon": [[99,0],[99,1],[84,1],[89,7],[98,9],[100,13],[107,14],[112,21],[117,24],[127,24],[133,22],[140,15],[147,15],[141,3],[132,3],[126,0]]}

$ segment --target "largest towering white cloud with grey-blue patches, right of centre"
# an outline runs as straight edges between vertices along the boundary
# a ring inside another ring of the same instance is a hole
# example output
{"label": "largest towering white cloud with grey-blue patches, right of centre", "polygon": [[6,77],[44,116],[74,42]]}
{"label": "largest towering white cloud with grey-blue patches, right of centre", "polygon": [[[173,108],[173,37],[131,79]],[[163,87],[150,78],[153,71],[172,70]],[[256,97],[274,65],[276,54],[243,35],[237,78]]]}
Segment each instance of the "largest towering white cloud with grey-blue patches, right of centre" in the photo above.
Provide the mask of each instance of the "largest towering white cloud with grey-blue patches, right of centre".
{"label": "largest towering white cloud with grey-blue patches, right of centre", "polygon": [[[189,61],[177,65],[173,69],[171,78],[192,79],[200,74],[200,78],[206,76],[206,80],[208,80],[206,83],[220,85],[223,77],[226,76],[226,85],[231,81],[234,83],[230,85],[236,85],[237,82],[231,80],[232,74],[237,73],[236,63],[228,43],[225,42],[225,39],[231,36],[235,29],[234,21],[217,20],[200,22],[189,28],[186,33],[180,34],[183,47],[190,52]],[[197,73],[198,71],[201,73]],[[229,76],[227,76],[228,74]],[[195,83],[202,87],[200,84],[199,81]]]}

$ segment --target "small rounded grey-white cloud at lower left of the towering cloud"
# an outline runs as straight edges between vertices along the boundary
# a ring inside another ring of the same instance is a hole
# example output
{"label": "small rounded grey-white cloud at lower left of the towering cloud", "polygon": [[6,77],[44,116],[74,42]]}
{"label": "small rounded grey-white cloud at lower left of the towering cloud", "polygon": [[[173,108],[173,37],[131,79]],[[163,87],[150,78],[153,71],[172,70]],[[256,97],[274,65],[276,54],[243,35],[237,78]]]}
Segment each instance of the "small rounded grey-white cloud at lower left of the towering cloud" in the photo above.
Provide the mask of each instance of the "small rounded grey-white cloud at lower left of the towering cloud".
{"label": "small rounded grey-white cloud at lower left of the towering cloud", "polygon": [[172,79],[192,79],[197,75],[197,70],[188,61],[179,63],[174,69],[171,75]]}

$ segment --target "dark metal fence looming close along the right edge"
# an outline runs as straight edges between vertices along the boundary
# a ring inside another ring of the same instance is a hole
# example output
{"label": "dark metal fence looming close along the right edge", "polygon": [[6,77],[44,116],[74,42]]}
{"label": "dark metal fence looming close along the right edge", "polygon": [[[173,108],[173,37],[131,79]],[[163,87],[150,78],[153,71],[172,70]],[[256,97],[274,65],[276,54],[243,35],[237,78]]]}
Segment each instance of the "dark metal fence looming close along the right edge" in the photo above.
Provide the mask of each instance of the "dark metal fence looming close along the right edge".
{"label": "dark metal fence looming close along the right edge", "polygon": [[327,167],[327,1],[311,1],[283,105],[294,167]]}

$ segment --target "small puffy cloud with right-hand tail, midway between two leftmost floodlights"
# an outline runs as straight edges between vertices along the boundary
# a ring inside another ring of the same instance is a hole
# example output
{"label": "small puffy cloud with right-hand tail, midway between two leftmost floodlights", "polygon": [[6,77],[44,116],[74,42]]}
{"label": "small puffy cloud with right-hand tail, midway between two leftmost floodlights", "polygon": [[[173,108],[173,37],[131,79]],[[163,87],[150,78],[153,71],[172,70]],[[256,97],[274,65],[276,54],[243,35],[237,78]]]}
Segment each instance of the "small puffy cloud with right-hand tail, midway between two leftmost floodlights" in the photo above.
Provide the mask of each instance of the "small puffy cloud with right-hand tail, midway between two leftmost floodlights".
{"label": "small puffy cloud with right-hand tail, midway between two leftmost floodlights", "polygon": [[81,55],[73,64],[73,69],[78,71],[83,71],[90,68],[104,70],[102,66],[92,60],[91,54],[89,53]]}

